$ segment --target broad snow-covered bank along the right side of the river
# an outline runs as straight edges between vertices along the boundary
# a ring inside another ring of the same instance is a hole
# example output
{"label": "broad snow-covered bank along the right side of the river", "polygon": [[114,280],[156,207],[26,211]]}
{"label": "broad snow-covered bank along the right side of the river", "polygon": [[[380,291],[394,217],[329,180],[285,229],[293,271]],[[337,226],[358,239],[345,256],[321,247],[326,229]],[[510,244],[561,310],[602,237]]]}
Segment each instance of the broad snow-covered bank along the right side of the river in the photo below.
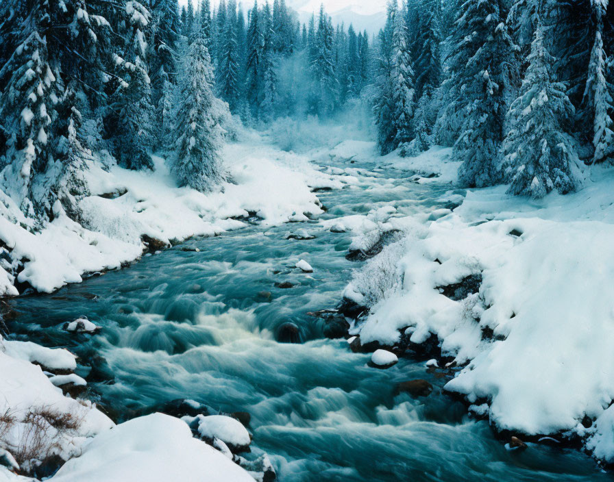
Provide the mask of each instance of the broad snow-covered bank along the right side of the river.
{"label": "broad snow-covered bank along the right side of the river", "polygon": [[[454,163],[443,155],[391,162],[449,181]],[[464,200],[448,192],[445,201],[462,201],[453,211],[336,220],[356,245],[386,223],[403,233],[347,286],[347,299],[370,308],[350,333],[401,349],[436,335],[437,355],[463,367],[445,388],[471,411],[502,430],[579,437],[614,461],[614,173],[593,174],[579,192],[541,201],[502,186]]]}

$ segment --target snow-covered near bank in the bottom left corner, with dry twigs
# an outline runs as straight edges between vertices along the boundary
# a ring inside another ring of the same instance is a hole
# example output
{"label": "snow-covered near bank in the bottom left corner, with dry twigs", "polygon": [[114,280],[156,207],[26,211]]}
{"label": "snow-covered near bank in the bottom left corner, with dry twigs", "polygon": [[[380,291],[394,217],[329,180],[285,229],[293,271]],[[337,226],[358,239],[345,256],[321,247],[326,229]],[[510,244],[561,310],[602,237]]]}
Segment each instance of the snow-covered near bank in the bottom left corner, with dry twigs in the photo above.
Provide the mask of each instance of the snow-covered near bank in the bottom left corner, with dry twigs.
{"label": "snow-covered near bank in the bottom left corner, with dry twigs", "polygon": [[[193,438],[179,418],[153,414],[115,426],[93,403],[64,396],[53,379],[74,383],[71,377],[77,376],[53,372],[75,367],[69,351],[0,336],[0,481],[36,482],[16,472],[36,473],[50,460],[58,464],[58,457],[67,462],[47,480],[254,482],[252,475],[258,477],[233,461],[228,447],[216,450]],[[237,420],[199,417],[206,435],[249,446],[249,434]]]}

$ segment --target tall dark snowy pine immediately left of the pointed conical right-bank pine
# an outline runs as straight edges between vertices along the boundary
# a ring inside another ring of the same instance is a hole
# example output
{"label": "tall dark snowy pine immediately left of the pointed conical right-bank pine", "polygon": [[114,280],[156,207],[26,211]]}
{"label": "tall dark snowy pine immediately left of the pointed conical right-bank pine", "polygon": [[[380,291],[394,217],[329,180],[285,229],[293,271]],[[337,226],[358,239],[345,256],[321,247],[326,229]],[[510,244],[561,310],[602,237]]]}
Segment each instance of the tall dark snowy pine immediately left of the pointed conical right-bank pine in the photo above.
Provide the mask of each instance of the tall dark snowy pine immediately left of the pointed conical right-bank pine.
{"label": "tall dark snowy pine immediately left of the pointed conical right-bank pine", "polygon": [[467,0],[457,12],[450,38],[443,125],[458,131],[454,155],[463,162],[459,177],[470,187],[500,181],[506,89],[515,49],[504,18],[501,0]]}

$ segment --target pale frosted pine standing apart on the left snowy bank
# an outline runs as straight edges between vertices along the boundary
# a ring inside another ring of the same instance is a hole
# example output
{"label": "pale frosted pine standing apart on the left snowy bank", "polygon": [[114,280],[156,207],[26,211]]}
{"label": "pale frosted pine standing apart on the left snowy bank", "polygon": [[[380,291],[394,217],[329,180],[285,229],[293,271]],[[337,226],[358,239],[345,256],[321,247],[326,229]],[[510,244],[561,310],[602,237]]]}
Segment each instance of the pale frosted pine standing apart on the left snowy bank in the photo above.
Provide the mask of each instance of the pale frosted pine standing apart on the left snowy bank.
{"label": "pale frosted pine standing apart on the left snowy bank", "polygon": [[220,159],[223,131],[217,122],[213,67],[203,36],[189,47],[180,78],[175,119],[177,153],[171,168],[180,186],[210,191],[223,178]]}

